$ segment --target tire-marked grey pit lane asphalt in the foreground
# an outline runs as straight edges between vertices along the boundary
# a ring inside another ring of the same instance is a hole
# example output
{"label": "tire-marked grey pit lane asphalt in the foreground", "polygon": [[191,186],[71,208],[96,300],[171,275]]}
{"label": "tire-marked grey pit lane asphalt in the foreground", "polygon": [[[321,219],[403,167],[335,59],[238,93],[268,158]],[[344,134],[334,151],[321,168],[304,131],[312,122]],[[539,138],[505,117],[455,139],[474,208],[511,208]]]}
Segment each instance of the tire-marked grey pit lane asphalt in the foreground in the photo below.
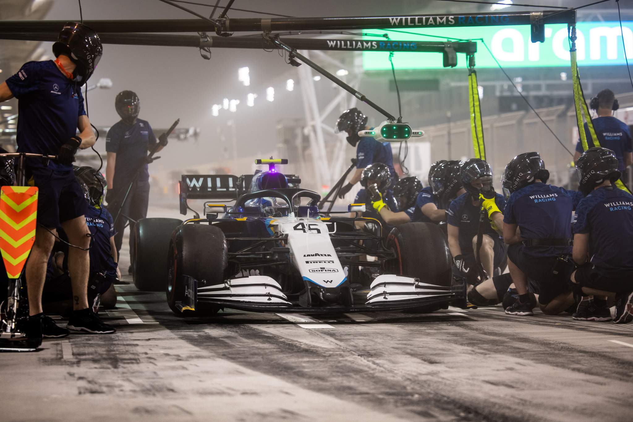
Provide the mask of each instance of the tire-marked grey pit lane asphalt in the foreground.
{"label": "tire-marked grey pit lane asphalt in the foreground", "polygon": [[1,421],[577,422],[633,414],[633,324],[506,316],[501,307],[184,319],[163,293],[117,290],[117,309],[103,314],[117,333],[0,354]]}

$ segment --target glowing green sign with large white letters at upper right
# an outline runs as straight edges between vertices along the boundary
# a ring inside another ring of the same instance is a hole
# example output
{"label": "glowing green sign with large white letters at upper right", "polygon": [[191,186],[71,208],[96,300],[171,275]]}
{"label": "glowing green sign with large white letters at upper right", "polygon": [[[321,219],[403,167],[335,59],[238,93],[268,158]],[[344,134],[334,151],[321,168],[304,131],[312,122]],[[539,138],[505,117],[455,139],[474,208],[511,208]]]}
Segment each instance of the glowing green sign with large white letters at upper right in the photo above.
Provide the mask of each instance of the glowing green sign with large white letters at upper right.
{"label": "glowing green sign with large white letters at upper right", "polygon": [[[626,42],[627,58],[633,59],[633,22],[622,22],[624,40]],[[545,42],[532,43],[530,41],[529,25],[507,27],[476,27],[476,28],[406,28],[407,32],[417,34],[437,35],[459,39],[484,39],[492,54],[503,67],[532,68],[532,67],[569,67],[569,44],[567,39],[567,25],[546,25]],[[373,34],[384,34],[384,30],[365,30]],[[579,66],[611,66],[625,65],[622,35],[619,22],[580,22],[577,24],[576,41]],[[437,40],[419,35],[389,32],[394,39],[407,40]],[[364,37],[376,40],[376,37]],[[391,48],[386,44],[389,40],[377,40],[384,43],[381,48]],[[497,65],[488,53],[486,47],[477,41],[475,54],[476,68],[496,68]],[[442,54],[438,53],[396,53],[394,65],[397,69],[442,69]],[[464,54],[458,54],[458,66],[467,65]],[[364,70],[391,70],[389,53],[382,51],[363,52]]]}

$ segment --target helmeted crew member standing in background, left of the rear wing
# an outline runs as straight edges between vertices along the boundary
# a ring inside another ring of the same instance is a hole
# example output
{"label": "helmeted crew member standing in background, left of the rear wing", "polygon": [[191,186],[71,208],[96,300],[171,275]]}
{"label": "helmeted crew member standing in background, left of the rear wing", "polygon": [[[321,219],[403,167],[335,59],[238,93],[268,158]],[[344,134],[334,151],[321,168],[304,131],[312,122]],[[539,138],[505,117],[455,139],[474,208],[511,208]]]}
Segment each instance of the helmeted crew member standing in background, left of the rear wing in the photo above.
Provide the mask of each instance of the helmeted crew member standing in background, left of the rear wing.
{"label": "helmeted crew member standing in background, left of the rear wing", "polygon": [[[130,267],[128,273],[132,274],[134,265],[134,227],[135,221],[147,217],[147,205],[149,203],[149,171],[147,170],[147,152],[156,145],[156,137],[146,120],[138,118],[141,111],[141,100],[130,90],[119,92],[115,99],[116,113],[121,120],[116,122],[106,135],[106,151],[108,152],[108,164],[106,164],[106,178],[108,180],[108,194],[106,201],[110,213],[119,214],[115,221],[116,252],[121,252],[123,245],[123,232],[128,216],[130,218]],[[161,137],[160,146],[156,152],[167,144],[166,137]],[[141,166],[141,170],[139,170]],[[132,184],[132,189],[123,205],[127,188]],[[119,213],[119,209],[121,210]]]}

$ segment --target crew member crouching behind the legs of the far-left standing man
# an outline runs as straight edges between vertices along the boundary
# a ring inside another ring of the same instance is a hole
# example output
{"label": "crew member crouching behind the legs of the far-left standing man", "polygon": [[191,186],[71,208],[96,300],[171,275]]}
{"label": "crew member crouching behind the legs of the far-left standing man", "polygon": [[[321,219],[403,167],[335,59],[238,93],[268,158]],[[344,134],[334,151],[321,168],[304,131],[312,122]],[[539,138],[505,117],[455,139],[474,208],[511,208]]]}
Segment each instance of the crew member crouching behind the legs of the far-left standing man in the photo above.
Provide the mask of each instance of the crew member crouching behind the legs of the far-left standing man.
{"label": "crew member crouching behind the legs of the far-left standing man", "polygon": [[[75,167],[77,181],[84,191],[88,210],[85,220],[91,233],[90,276],[88,278],[88,302],[96,313],[99,306],[114,307],[116,292],[113,283],[118,268],[114,223],[108,210],[103,208],[106,194],[106,179],[92,167]],[[61,243],[61,242],[60,242]],[[54,255],[53,275],[44,283],[44,309],[47,312],[67,312],[66,303],[72,299],[70,276],[68,275],[68,247]]]}

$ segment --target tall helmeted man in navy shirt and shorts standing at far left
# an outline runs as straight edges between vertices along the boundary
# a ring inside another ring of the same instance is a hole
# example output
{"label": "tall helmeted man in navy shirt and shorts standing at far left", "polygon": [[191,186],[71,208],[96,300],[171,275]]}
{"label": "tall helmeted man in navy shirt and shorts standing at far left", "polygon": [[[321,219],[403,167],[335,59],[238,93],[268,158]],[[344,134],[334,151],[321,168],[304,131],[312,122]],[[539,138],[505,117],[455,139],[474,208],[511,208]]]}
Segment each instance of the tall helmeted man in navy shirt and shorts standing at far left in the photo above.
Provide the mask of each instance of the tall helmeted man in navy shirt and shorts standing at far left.
{"label": "tall helmeted man in navy shirt and shorts standing at far left", "polygon": [[[99,63],[103,47],[99,36],[78,22],[66,23],[53,44],[55,61],[30,61],[0,85],[0,102],[18,99],[18,152],[56,155],[48,163],[27,158],[27,180],[39,188],[35,244],[26,264],[30,319],[27,334],[41,337],[68,335],[42,313],[42,288],[53,249],[55,228],[63,227],[73,247],[68,266],[73,287],[73,330],[111,333],[88,306],[89,230],[84,194],[73,175],[77,149],[94,145],[96,138],[84,110],[81,87]],[[77,129],[79,134],[77,135]]]}

